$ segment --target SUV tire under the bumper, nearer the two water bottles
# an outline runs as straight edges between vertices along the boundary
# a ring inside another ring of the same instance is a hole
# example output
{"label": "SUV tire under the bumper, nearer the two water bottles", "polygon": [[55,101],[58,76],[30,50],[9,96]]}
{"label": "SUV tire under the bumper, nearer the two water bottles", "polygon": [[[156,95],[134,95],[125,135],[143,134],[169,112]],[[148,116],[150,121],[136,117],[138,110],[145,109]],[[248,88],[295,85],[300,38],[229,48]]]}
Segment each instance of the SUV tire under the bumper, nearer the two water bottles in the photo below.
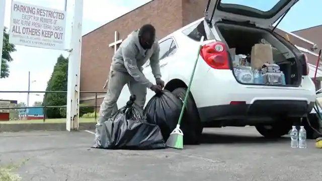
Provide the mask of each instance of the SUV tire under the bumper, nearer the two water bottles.
{"label": "SUV tire under the bumper, nearer the two water bottles", "polygon": [[288,134],[292,129],[291,121],[278,121],[271,125],[257,125],[255,126],[257,131],[265,138],[279,138]]}

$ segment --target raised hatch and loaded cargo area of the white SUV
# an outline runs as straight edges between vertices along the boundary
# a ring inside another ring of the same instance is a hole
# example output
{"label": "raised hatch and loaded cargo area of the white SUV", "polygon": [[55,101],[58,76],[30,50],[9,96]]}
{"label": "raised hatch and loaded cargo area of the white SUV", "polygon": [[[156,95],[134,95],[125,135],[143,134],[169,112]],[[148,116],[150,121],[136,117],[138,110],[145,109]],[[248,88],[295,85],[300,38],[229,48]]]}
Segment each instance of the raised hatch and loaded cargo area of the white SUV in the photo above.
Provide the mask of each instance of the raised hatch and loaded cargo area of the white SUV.
{"label": "raised hatch and loaded cargo area of the white SUV", "polygon": [[298,1],[270,0],[265,6],[262,0],[208,1],[205,19],[228,46],[230,66],[239,83],[300,85],[301,75],[307,75],[302,66],[306,67],[306,58],[270,29]]}

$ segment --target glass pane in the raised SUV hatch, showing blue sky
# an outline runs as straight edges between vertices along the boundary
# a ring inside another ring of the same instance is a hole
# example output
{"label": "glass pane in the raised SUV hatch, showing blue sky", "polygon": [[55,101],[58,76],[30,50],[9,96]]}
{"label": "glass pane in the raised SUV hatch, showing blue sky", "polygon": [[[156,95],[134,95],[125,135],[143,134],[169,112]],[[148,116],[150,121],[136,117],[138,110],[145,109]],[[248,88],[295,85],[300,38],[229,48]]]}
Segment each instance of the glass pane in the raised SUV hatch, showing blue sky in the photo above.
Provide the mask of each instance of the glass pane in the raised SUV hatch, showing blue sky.
{"label": "glass pane in the raised SUV hatch, showing blue sky", "polygon": [[221,0],[218,5],[218,10],[245,15],[249,17],[269,19],[274,17],[292,0]]}

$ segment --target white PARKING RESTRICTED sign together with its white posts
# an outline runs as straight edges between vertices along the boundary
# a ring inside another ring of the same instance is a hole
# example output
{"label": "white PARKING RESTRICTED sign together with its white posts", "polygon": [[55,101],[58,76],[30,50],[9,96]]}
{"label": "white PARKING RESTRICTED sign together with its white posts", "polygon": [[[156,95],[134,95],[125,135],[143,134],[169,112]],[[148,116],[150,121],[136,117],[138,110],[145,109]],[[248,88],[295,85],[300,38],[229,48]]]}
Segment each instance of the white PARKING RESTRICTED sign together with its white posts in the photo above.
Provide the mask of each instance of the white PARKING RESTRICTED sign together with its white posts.
{"label": "white PARKING RESTRICTED sign together with its white posts", "polygon": [[[5,0],[0,1],[2,3],[5,2]],[[65,0],[65,11],[60,11],[13,1],[11,6],[9,42],[15,45],[66,50],[64,45],[66,2]],[[4,6],[0,6],[1,10],[5,10]],[[82,22],[83,0],[77,0],[74,5],[68,61],[67,131],[78,129]]]}

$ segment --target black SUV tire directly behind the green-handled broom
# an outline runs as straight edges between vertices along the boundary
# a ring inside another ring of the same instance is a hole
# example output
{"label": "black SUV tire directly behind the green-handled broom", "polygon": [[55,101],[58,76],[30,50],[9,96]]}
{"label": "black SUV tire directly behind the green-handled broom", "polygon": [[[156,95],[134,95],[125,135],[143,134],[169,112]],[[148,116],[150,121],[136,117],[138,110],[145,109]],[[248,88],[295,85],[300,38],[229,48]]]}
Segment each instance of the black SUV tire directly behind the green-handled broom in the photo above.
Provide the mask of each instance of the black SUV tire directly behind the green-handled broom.
{"label": "black SUV tire directly behind the green-handled broom", "polygon": [[[172,94],[179,98],[182,103],[184,102],[186,93],[186,88],[176,88],[172,92]],[[180,127],[184,135],[184,144],[200,144],[203,127],[200,122],[196,103],[191,93],[189,93],[187,98],[187,104]]]}

